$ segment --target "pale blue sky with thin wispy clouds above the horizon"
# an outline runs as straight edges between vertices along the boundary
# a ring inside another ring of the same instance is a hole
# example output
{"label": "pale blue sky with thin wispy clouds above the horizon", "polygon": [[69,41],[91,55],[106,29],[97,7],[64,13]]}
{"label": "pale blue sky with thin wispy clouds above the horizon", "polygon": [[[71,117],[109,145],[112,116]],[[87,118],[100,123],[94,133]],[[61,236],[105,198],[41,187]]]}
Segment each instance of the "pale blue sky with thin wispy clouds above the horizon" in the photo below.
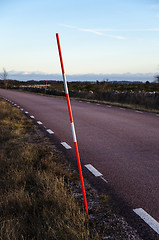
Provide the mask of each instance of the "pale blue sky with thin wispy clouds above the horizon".
{"label": "pale blue sky with thin wispy clouds above the horizon", "polygon": [[56,32],[68,76],[159,72],[159,0],[0,0],[0,9],[10,75],[60,74]]}

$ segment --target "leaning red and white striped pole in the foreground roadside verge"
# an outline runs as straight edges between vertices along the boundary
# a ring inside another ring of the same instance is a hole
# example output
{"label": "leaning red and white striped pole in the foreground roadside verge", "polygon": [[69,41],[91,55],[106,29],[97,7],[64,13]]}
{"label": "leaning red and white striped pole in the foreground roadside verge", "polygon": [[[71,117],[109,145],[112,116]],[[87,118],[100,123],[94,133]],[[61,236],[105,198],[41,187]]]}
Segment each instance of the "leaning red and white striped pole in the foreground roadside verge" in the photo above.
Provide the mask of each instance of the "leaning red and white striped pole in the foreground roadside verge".
{"label": "leaning red and white striped pole in the foreground roadside verge", "polygon": [[70,123],[71,123],[74,147],[75,147],[75,152],[76,152],[76,157],[77,157],[78,170],[79,170],[79,175],[80,175],[80,180],[81,180],[84,206],[85,206],[85,211],[88,214],[88,206],[87,206],[87,199],[86,199],[86,193],[85,193],[85,187],[84,187],[84,181],[83,181],[83,175],[82,175],[82,168],[81,168],[80,156],[79,156],[77,139],[76,139],[76,132],[75,132],[75,127],[74,127],[74,122],[73,122],[70,98],[69,98],[69,93],[68,93],[68,86],[67,86],[67,81],[66,81],[66,76],[65,76],[64,64],[63,64],[62,52],[61,52],[61,46],[60,46],[60,39],[59,39],[59,34],[58,33],[56,33],[56,39],[57,39],[57,45],[58,45],[58,50],[59,50],[61,70],[62,70],[62,76],[63,76],[63,81],[64,81],[64,87],[65,87],[65,93],[66,93],[66,99],[67,99],[67,106],[68,106],[68,111],[69,111],[69,116],[70,116]]}

